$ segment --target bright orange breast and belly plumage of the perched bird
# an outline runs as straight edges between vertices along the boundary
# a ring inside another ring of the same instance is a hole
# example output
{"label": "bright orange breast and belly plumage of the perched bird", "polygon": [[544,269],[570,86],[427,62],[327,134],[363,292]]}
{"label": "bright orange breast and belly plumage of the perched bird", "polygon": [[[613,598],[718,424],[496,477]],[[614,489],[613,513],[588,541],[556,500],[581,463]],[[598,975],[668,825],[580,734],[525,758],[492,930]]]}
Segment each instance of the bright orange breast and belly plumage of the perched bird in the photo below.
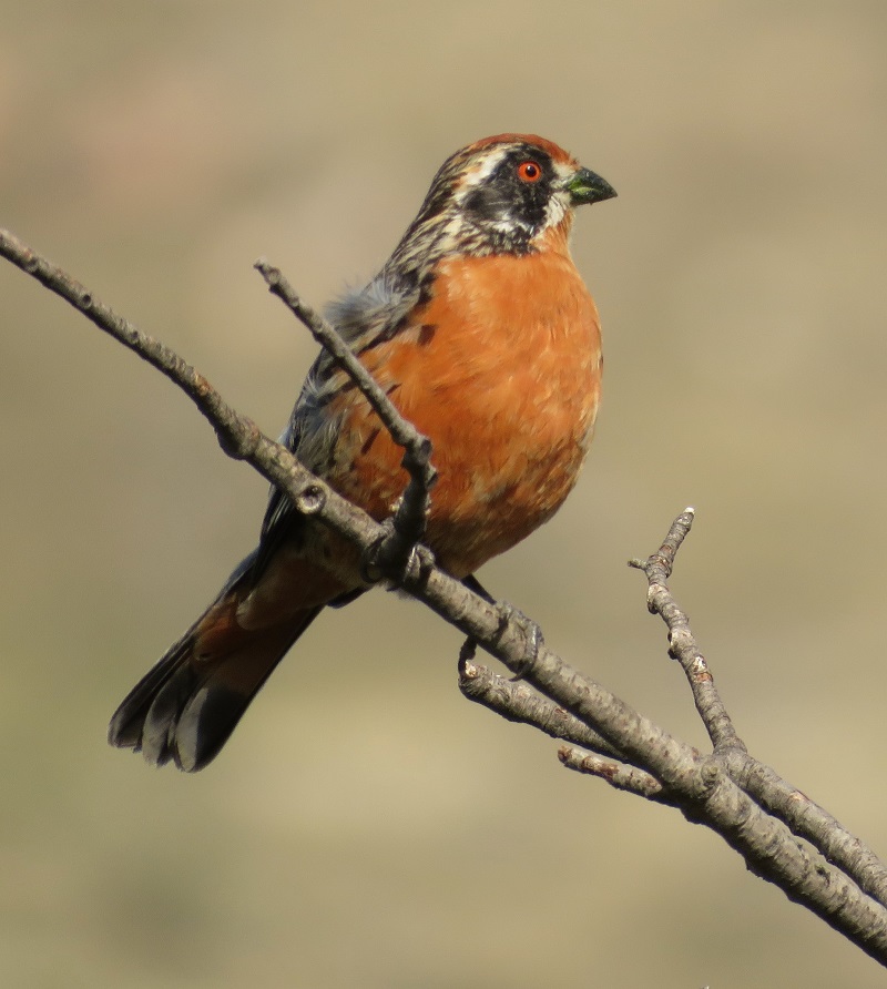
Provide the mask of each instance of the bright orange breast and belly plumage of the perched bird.
{"label": "bright orange breast and belly plumage of the perched bird", "polygon": [[[591,441],[598,313],[565,244],[552,247],[445,261],[414,323],[361,358],[434,443],[427,542],[457,577],[552,516]],[[385,518],[407,481],[401,451],[354,391],[336,405],[354,457],[329,480]]]}

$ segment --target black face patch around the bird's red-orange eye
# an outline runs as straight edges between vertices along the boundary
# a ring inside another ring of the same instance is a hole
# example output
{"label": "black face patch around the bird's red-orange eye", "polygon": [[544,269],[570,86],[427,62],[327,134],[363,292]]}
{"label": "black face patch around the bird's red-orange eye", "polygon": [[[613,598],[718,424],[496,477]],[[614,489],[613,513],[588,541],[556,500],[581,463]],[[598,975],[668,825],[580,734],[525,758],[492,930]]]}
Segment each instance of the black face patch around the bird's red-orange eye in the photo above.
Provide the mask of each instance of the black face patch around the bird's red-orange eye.
{"label": "black face patch around the bird's red-orange eye", "polygon": [[[534,162],[541,170],[536,181],[521,177],[519,170],[524,162]],[[526,244],[544,225],[554,177],[551,157],[546,152],[532,145],[514,147],[466,196],[462,208],[478,226],[495,226],[498,237]]]}

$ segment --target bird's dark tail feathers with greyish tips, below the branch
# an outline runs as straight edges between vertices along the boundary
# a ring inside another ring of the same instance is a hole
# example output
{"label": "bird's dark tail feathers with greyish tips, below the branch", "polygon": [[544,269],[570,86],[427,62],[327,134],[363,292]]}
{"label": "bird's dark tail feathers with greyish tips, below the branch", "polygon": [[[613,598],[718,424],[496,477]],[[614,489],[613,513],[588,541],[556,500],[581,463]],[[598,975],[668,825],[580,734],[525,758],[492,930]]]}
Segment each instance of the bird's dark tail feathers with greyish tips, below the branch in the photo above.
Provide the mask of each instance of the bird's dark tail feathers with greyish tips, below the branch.
{"label": "bird's dark tail feathers with greyish tips, below the branch", "polygon": [[108,741],[141,751],[155,766],[173,759],[187,773],[202,769],[322,608],[245,636],[212,660],[194,655],[195,623],[130,691],[111,718]]}

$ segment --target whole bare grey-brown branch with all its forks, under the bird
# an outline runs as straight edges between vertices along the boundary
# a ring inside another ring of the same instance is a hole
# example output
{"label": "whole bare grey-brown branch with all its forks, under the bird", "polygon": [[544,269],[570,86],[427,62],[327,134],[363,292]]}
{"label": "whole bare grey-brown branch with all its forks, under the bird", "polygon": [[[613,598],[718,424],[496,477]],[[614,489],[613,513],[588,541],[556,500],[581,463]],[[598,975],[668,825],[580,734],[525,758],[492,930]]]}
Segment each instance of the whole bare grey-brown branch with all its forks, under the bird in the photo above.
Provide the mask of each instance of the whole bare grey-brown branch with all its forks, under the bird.
{"label": "whole bare grey-brown branch with all its forks, under the bird", "polygon": [[[177,385],[211,422],[225,452],[248,462],[286,492],[299,511],[316,516],[364,552],[369,568],[395,579],[522,677],[514,682],[493,673],[475,662],[473,648],[465,648],[459,685],[469,700],[562,740],[565,745],[558,757],[568,768],[677,807],[689,819],[705,824],[743,856],[752,871],[887,966],[887,868],[826,810],[748,755],[690,621],[669,589],[676,553],[693,524],[692,509],[675,519],[656,552],[646,560],[632,560],[630,565],[646,577],[648,606],[667,628],[669,653],[686,676],[708,734],[708,754],[670,735],[568,665],[541,640],[533,642],[529,620],[514,610],[485,599],[435,565],[420,542],[436,478],[430,443],[399,416],[335,329],[299,299],[268,262],[259,261],[256,267],[271,292],[351,377],[405,451],[409,483],[387,526],[379,526],[307,471],[289,450],[228,406],[173,350],[118,316],[6,231],[0,231],[0,255]],[[528,646],[532,646],[531,662]]]}

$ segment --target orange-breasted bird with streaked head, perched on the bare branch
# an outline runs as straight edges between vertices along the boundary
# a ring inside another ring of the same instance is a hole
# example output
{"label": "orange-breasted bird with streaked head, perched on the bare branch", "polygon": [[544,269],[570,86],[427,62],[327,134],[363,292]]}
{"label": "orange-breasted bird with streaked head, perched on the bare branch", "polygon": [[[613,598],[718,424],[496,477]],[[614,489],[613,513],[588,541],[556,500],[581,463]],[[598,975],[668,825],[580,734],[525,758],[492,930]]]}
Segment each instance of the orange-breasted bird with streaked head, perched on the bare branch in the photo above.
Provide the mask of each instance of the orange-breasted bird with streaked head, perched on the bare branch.
{"label": "orange-breasted bird with streaked head, perched on the bare branch", "polygon": [[[482,590],[475,572],[553,516],[585,459],[601,332],[569,238],[578,206],[615,194],[536,134],[476,141],[440,166],[379,273],[327,309],[430,439],[424,543],[469,587]],[[391,518],[402,451],[326,351],[281,441],[377,522]],[[354,547],[272,487],[257,548],[120,704],[109,742],[154,766],[204,768],[315,618],[367,581]]]}

